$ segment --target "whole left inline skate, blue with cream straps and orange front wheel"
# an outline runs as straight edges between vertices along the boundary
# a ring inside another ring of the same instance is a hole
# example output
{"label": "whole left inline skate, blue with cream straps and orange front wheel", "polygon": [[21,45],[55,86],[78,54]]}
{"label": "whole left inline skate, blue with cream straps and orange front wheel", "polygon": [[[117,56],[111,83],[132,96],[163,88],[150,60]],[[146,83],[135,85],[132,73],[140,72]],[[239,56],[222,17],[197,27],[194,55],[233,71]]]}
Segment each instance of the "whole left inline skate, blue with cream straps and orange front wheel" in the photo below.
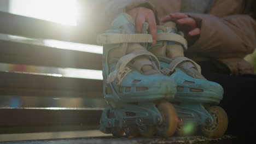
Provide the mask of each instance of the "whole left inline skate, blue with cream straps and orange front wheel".
{"label": "whole left inline skate, blue with cream straps and orange front wheel", "polygon": [[145,23],[145,33],[135,34],[132,17],[124,13],[97,38],[103,45],[103,93],[108,103],[100,120],[103,133],[168,137],[176,131],[177,113],[167,101],[174,98],[177,85],[160,73],[158,59],[146,50],[152,43],[147,28]]}

